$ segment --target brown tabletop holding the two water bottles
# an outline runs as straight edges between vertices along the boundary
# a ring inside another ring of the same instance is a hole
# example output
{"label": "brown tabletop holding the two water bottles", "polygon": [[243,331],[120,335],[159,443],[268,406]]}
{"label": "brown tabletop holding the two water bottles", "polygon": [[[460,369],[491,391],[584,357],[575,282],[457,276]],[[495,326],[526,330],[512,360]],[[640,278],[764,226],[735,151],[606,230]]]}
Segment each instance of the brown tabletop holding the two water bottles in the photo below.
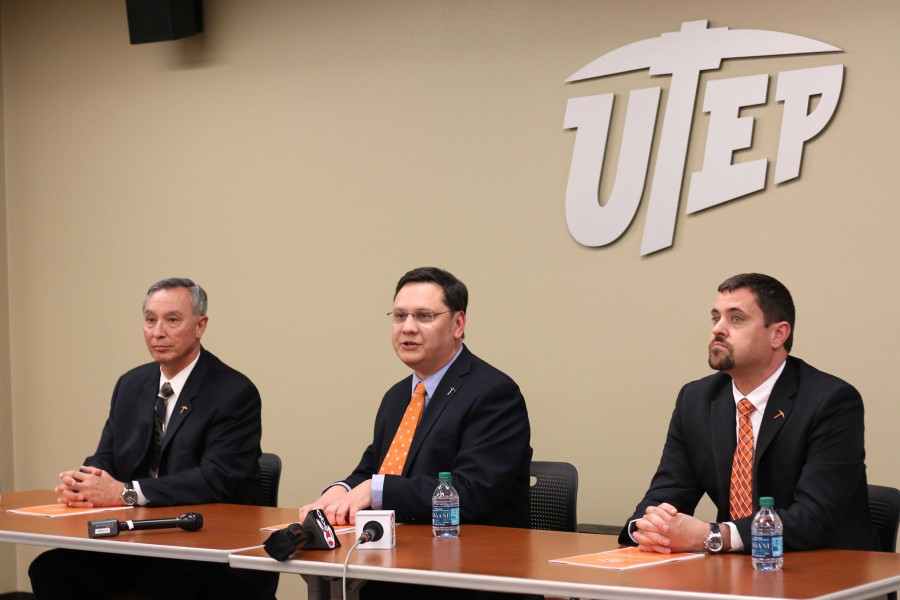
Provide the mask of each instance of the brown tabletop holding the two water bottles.
{"label": "brown tabletop holding the two water bottles", "polygon": [[[342,576],[355,542],[338,536],[336,551],[300,550],[278,562],[262,550],[232,554],[232,566],[303,575]],[[609,535],[463,525],[458,539],[431,528],[398,525],[391,550],[356,550],[348,578],[579,598],[871,598],[900,588],[900,554],[818,550],[788,553],[781,572],[753,570],[744,555],[608,570],[551,559],[618,548]]]}

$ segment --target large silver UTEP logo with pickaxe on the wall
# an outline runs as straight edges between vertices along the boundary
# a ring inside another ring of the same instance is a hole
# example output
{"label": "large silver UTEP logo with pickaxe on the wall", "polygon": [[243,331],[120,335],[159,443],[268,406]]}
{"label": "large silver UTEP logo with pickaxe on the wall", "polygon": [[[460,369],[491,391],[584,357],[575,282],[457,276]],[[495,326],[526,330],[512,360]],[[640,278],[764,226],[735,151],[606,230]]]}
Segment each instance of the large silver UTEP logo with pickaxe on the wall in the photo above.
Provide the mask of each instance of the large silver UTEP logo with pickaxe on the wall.
{"label": "large silver UTEP logo with pickaxe on the wall", "polygon": [[[718,69],[726,58],[839,51],[835,46],[789,33],[709,29],[707,21],[692,21],[682,23],[681,31],[604,54],[566,80],[573,83],[641,69],[649,69],[651,76],[671,75],[641,256],[672,245],[700,73]],[[776,184],[799,176],[803,145],[834,115],[843,78],[842,64],[778,73],[775,98],[783,108],[775,158]],[[740,117],[741,108],[765,103],[768,87],[767,73],[706,84],[703,111],[709,115],[709,133],[703,167],[691,176],[687,214],[765,187],[768,159],[732,164],[732,155],[752,144],[753,118]],[[569,100],[564,129],[577,129],[577,133],[566,187],[566,221],[578,243],[610,244],[634,219],[644,193],[660,90],[652,87],[629,93],[615,182],[602,205],[599,185],[614,94]],[[815,108],[810,112],[812,104]]]}

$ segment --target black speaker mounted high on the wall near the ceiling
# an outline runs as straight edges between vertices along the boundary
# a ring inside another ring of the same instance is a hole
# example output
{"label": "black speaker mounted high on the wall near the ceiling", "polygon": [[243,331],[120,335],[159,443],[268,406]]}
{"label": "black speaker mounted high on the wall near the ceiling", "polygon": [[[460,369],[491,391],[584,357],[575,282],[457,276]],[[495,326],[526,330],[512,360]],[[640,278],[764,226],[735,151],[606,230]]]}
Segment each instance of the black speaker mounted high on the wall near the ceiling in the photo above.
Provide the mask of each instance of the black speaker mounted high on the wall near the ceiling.
{"label": "black speaker mounted high on the wall near the ceiling", "polygon": [[203,31],[201,0],[125,0],[132,44],[177,40]]}

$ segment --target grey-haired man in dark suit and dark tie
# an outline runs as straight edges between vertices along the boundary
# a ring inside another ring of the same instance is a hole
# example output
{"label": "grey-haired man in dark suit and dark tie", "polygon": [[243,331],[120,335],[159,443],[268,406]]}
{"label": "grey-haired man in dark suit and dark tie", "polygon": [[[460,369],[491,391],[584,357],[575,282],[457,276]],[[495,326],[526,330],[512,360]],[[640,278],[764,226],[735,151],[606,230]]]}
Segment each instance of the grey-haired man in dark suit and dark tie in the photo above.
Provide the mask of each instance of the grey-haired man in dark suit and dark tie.
{"label": "grey-haired man in dark suit and dark tie", "polygon": [[[97,451],[60,474],[58,502],[261,503],[259,392],[201,347],[206,308],[206,292],[189,279],[150,288],[144,339],[155,362],[119,378]],[[277,575],[227,565],[74,550],[45,552],[29,575],[37,598],[103,598],[135,587],[142,598],[274,598],[277,587]]]}

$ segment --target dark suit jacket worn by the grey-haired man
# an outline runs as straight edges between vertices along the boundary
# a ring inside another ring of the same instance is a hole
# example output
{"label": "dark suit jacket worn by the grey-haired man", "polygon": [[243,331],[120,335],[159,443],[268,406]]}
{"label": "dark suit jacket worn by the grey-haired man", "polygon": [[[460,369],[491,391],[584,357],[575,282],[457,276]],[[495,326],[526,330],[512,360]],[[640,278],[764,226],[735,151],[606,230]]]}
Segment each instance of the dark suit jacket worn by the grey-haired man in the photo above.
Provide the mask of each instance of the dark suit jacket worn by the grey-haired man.
{"label": "dark suit jacket worn by the grey-haired man", "polygon": [[162,442],[159,477],[149,477],[158,363],[122,375],[100,444],[84,464],[137,480],[151,505],[260,504],[261,400],[253,383],[201,349]]}

